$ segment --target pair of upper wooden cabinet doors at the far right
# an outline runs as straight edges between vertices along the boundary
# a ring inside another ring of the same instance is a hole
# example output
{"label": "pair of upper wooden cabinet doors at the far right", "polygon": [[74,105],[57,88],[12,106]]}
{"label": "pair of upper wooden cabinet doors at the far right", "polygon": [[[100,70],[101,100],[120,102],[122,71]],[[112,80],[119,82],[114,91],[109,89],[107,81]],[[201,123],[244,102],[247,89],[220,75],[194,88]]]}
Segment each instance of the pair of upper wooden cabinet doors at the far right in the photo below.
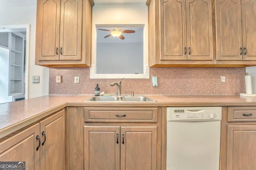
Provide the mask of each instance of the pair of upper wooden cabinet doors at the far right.
{"label": "pair of upper wooden cabinet doors at the far right", "polygon": [[256,60],[256,1],[216,0],[217,61]]}

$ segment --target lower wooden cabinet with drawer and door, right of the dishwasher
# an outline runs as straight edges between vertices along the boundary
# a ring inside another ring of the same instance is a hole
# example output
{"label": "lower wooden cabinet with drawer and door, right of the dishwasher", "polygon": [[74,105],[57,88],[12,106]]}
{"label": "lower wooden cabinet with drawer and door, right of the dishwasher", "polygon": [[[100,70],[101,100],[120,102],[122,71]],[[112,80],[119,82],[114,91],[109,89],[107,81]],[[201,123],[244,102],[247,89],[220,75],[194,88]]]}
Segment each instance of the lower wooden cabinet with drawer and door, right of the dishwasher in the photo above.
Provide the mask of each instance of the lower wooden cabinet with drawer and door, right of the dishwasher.
{"label": "lower wooden cabinet with drawer and door, right of the dishwasher", "polygon": [[224,107],[220,170],[254,170],[256,107]]}

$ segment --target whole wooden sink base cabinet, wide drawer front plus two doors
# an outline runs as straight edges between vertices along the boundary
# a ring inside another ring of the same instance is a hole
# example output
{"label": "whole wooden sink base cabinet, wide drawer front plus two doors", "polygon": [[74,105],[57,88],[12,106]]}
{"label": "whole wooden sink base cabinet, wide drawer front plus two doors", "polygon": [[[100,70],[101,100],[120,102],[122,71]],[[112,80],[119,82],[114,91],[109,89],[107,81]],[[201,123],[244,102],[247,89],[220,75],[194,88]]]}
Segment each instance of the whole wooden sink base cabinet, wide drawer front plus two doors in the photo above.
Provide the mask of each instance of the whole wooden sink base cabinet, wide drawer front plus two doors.
{"label": "whole wooden sink base cabinet, wide drawer front plus two doors", "polygon": [[160,117],[160,107],[85,107],[84,169],[160,169]]}

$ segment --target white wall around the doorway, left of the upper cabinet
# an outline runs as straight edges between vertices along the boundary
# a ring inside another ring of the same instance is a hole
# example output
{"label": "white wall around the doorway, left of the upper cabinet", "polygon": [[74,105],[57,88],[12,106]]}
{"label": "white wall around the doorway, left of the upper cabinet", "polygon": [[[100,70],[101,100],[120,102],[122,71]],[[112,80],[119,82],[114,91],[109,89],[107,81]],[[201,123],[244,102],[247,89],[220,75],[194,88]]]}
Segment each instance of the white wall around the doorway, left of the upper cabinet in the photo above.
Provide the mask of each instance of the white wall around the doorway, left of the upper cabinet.
{"label": "white wall around the doorway, left of the upper cabinet", "polygon": [[[28,98],[49,94],[49,68],[35,65],[36,6],[0,7],[0,25],[30,24],[28,66]],[[32,76],[40,76],[40,83],[32,83]]]}

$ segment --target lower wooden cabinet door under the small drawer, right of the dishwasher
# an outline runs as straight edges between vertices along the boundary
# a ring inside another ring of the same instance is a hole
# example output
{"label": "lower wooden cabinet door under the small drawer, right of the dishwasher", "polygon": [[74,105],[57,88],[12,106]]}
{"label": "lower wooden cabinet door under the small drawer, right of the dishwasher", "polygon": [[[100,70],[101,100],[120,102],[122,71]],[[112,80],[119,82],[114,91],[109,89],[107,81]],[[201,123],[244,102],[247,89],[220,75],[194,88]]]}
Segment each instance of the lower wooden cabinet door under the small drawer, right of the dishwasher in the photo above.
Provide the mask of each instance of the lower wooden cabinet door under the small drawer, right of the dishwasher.
{"label": "lower wooden cabinet door under the small drawer, right of the dishwasher", "polygon": [[256,125],[228,125],[227,170],[256,169]]}

